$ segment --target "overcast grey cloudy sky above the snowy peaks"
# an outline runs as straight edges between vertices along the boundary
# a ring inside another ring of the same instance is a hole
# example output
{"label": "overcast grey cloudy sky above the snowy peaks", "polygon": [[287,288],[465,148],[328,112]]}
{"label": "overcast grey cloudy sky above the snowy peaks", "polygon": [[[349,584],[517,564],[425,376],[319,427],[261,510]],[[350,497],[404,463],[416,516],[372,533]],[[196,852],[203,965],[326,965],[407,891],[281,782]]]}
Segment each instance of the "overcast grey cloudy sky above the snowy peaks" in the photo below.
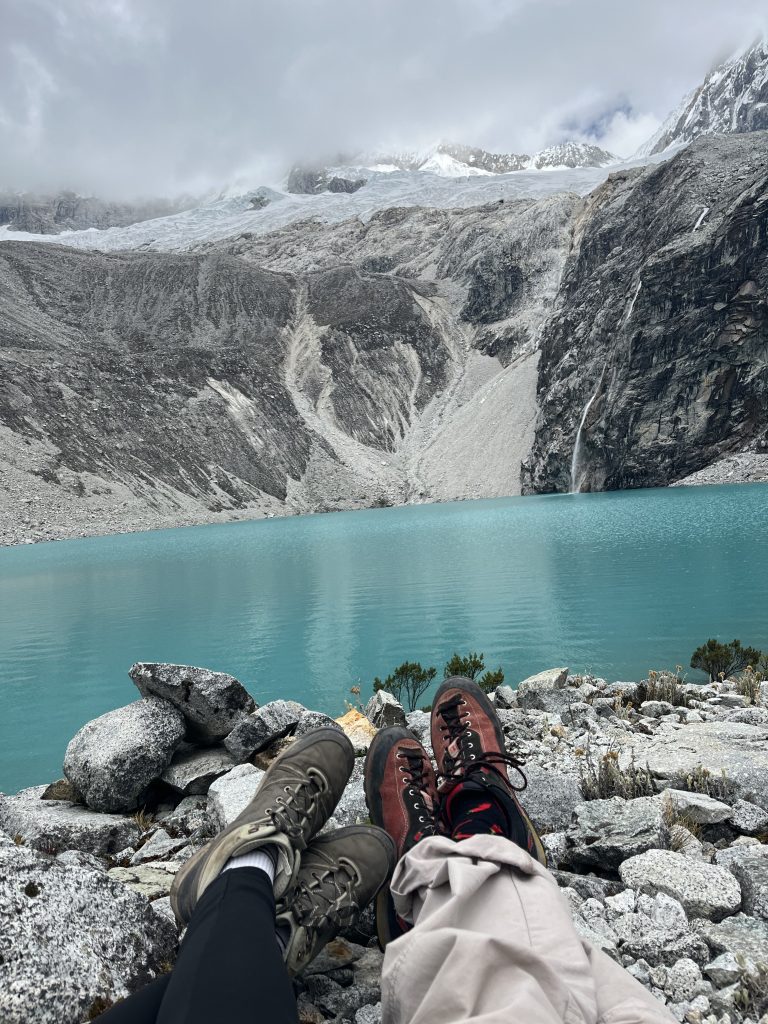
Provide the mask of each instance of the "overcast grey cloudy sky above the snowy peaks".
{"label": "overcast grey cloudy sky above the snowy peaks", "polygon": [[766,0],[0,0],[0,186],[253,185],[452,139],[629,156]]}

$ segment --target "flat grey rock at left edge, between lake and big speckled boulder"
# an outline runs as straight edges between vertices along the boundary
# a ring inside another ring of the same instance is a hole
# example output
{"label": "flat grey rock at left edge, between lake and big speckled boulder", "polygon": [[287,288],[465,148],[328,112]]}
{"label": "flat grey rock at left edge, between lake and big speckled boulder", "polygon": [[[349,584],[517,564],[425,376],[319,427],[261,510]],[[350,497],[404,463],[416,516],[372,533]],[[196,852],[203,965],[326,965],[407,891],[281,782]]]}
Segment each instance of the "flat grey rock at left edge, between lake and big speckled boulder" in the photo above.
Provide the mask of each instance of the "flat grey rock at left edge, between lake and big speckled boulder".
{"label": "flat grey rock at left edge, between lake and big speckled boulder", "polygon": [[26,846],[46,853],[82,850],[103,857],[138,841],[140,833],[133,818],[42,800],[44,792],[44,785],[37,785],[15,797],[0,796],[0,827],[11,837],[19,836]]}

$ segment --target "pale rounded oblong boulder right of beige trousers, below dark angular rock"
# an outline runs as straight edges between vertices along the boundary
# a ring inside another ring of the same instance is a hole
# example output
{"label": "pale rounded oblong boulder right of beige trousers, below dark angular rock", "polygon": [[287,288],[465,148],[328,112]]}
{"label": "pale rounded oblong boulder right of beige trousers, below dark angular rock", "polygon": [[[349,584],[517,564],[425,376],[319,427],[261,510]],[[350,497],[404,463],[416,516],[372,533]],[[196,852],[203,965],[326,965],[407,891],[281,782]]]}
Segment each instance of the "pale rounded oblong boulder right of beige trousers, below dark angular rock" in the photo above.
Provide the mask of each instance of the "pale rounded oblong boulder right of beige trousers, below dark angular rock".
{"label": "pale rounded oblong boulder right of beige trousers, below dark angular rock", "polygon": [[626,886],[640,892],[672,896],[692,916],[720,921],[741,905],[738,883],[724,867],[683,857],[672,850],[648,850],[618,868]]}

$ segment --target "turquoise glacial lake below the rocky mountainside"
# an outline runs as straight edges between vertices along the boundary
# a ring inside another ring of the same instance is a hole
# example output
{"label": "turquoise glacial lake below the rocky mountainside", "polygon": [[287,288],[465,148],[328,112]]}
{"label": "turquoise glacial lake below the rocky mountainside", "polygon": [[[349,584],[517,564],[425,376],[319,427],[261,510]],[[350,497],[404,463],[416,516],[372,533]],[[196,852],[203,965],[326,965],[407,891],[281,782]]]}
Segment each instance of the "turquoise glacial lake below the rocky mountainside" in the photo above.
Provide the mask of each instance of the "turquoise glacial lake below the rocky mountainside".
{"label": "turquoise glacial lake below the rocky mountainside", "polygon": [[[60,775],[133,662],[342,714],[406,659],[484,651],[516,683],[768,649],[768,485],[341,512],[0,550],[0,791]],[[702,679],[689,672],[689,678]],[[428,696],[424,698],[425,702]]]}

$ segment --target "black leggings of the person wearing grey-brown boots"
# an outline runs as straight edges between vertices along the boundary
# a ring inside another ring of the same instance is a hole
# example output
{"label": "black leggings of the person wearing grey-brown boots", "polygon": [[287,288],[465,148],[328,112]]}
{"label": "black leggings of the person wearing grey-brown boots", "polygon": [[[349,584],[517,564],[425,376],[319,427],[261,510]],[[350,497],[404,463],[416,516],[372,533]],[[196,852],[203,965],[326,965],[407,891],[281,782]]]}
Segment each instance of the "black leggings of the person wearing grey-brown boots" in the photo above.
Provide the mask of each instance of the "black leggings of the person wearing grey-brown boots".
{"label": "black leggings of the person wearing grey-brown boots", "polygon": [[223,871],[198,904],[173,971],[102,1014],[103,1024],[297,1024],[274,937],[274,897],[258,867]]}

